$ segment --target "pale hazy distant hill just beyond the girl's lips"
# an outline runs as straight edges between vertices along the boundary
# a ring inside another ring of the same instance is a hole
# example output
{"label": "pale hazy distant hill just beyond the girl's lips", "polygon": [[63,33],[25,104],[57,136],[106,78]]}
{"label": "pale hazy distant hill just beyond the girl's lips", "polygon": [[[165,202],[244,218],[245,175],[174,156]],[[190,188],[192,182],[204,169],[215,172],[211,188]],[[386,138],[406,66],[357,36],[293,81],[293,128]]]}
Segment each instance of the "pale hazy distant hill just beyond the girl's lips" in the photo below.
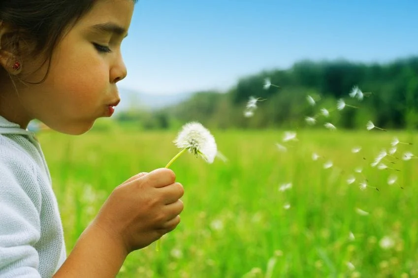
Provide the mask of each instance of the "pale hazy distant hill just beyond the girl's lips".
{"label": "pale hazy distant hill just beyond the girl's lips", "polygon": [[129,89],[119,89],[121,95],[121,103],[116,111],[123,111],[135,108],[145,108],[156,110],[163,107],[175,105],[189,99],[193,93],[177,93],[177,94],[152,94],[140,93]]}

